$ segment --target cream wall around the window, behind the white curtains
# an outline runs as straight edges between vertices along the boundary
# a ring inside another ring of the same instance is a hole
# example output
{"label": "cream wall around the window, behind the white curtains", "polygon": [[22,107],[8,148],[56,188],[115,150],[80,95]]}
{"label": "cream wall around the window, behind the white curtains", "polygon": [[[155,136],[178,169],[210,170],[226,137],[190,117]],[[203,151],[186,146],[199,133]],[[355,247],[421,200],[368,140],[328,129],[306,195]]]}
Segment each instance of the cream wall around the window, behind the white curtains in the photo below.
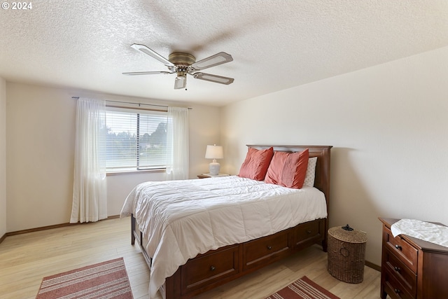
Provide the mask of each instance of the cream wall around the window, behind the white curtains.
{"label": "cream wall around the window, behind the white curtains", "polygon": [[[69,222],[76,117],[76,100],[72,96],[164,104],[149,99],[6,83],[7,232]],[[219,139],[220,115],[216,107],[183,105],[193,108],[189,127],[190,177],[194,178],[207,171],[205,148]],[[0,144],[4,144],[1,132]],[[137,183],[163,177],[160,172],[108,176],[109,216],[120,213],[126,195]]]}

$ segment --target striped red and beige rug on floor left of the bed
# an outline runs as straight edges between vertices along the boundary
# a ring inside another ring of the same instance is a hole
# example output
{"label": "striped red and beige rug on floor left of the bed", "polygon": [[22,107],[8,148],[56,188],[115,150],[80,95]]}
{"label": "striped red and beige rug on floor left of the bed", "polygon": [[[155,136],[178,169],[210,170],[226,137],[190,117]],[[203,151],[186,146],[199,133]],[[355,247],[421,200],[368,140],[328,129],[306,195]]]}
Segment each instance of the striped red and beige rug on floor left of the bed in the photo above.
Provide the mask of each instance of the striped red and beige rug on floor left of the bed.
{"label": "striped red and beige rug on floor left of the bed", "polygon": [[44,277],[36,299],[132,299],[123,258]]}

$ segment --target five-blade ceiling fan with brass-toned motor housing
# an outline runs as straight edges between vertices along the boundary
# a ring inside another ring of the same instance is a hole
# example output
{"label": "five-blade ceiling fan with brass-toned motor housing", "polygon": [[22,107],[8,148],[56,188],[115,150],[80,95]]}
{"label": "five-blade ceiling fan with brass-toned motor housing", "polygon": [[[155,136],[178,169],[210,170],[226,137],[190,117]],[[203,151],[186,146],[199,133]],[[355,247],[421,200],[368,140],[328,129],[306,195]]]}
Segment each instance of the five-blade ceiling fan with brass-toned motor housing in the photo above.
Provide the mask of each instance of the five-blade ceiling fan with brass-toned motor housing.
{"label": "five-blade ceiling fan with brass-toned motor housing", "polygon": [[133,71],[130,73],[123,73],[123,75],[177,74],[174,81],[174,89],[186,88],[187,74],[190,74],[196,79],[225,85],[229,85],[234,81],[233,78],[200,72],[202,69],[208,69],[209,67],[215,67],[219,64],[233,61],[232,55],[229,55],[228,53],[220,52],[204,58],[203,60],[196,61],[196,58],[188,53],[171,53],[168,59],[166,59],[144,45],[134,43],[131,47],[162,62],[168,67],[169,71]]}

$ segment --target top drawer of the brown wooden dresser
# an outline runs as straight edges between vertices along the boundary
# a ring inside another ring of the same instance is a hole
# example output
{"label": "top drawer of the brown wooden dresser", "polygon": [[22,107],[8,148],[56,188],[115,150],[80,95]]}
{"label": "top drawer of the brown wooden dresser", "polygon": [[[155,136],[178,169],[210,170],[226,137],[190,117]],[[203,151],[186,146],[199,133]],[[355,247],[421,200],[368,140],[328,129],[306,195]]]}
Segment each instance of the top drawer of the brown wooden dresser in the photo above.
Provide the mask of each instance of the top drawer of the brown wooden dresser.
{"label": "top drawer of the brown wooden dresser", "polygon": [[412,272],[417,272],[417,258],[419,251],[411,244],[407,243],[405,239],[400,236],[393,237],[391,230],[384,228],[384,241],[386,248],[398,256]]}

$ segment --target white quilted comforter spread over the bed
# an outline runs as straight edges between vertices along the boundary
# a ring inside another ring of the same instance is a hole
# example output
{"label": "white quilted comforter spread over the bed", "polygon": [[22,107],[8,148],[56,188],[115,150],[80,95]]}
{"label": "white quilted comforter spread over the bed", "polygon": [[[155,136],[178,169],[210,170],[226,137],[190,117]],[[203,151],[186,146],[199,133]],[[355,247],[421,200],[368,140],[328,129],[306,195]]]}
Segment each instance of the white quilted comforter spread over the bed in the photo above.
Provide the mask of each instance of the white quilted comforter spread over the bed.
{"label": "white quilted comforter spread over the bed", "polygon": [[153,258],[153,298],[180,265],[221,246],[272,235],[327,216],[317,188],[285,188],[238,176],[141,183],[120,217],[134,214]]}

